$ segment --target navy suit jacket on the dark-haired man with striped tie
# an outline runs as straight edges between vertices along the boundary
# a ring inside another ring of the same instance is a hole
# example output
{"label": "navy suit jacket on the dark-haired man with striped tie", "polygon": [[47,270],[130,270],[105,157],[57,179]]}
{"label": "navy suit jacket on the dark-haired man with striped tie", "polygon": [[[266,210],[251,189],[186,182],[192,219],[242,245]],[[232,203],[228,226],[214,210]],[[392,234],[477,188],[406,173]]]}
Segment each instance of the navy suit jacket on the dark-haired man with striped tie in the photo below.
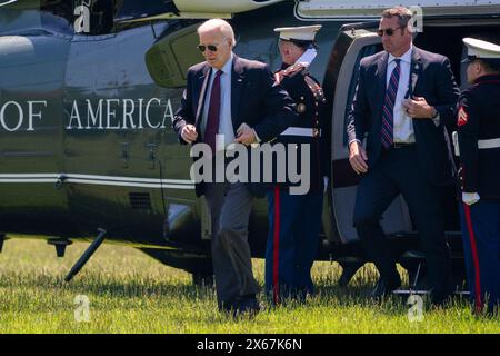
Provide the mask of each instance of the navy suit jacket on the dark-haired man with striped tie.
{"label": "navy suit jacket on the dark-haired man with striped tie", "polygon": [[[358,87],[349,111],[349,141],[367,136],[368,166],[377,164],[382,149],[382,106],[386,96],[386,73],[389,53],[378,52],[360,63]],[[454,121],[459,88],[447,57],[413,46],[410,67],[410,95],[423,97],[440,116],[440,125],[430,119],[413,119],[418,164],[436,185],[453,181],[454,164],[446,129]]]}

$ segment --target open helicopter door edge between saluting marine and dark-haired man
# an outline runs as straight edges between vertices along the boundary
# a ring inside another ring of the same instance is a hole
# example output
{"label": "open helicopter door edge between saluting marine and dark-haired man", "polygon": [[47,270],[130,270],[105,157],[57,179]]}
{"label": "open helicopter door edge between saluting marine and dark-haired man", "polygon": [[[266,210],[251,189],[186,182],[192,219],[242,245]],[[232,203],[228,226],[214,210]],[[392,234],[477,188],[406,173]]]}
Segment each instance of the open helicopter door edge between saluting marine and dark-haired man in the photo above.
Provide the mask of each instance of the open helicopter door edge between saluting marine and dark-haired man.
{"label": "open helicopter door edge between saluting marine and dark-haired man", "polygon": [[[378,23],[369,24],[367,28],[342,28],[336,42],[332,56],[337,67],[337,73],[331,73],[337,80],[332,83],[334,89],[333,115],[332,115],[332,215],[336,222],[337,234],[333,239],[343,243],[357,240],[357,233],[352,226],[354,210],[354,198],[359,178],[349,164],[349,150],[347,138],[348,111],[354,96],[358,82],[358,68],[360,60],[382,50],[381,40],[370,31]],[[339,66],[340,65],[340,66]],[[339,68],[340,67],[340,68]],[[382,219],[386,233],[398,233],[412,230],[412,224],[408,207],[400,196],[388,208]]]}

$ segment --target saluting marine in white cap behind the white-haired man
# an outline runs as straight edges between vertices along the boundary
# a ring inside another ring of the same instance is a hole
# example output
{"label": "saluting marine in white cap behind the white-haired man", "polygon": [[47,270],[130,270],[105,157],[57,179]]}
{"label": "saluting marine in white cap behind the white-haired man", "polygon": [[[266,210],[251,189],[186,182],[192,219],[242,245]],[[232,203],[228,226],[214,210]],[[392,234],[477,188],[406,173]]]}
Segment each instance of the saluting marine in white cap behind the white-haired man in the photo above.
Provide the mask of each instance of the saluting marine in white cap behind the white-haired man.
{"label": "saluting marine in white cap behind the white-haired man", "polygon": [[[274,304],[284,298],[303,301],[313,293],[311,267],[316,258],[323,200],[326,141],[324,95],[319,82],[309,73],[308,66],[316,57],[313,43],[321,26],[277,28],[280,32],[280,55],[283,65],[274,75],[296,101],[299,117],[276,140],[286,147],[297,148],[297,165],[307,169],[300,160],[301,145],[309,145],[310,189],[294,195],[291,182],[273,184],[267,191],[269,202],[269,236],[266,251],[266,290]],[[287,164],[292,157],[288,156]],[[303,172],[302,172],[303,174]]]}

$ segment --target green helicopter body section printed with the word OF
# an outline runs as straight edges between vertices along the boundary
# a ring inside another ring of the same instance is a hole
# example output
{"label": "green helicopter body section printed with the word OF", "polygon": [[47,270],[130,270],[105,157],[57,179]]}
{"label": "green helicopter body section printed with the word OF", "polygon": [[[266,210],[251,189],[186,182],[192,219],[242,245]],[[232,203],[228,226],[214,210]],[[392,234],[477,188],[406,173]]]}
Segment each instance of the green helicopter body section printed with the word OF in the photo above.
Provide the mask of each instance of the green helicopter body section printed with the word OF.
{"label": "green helicopter body section printed with the word OF", "polygon": [[62,36],[0,36],[0,229],[49,234],[63,225],[57,178],[68,48]]}

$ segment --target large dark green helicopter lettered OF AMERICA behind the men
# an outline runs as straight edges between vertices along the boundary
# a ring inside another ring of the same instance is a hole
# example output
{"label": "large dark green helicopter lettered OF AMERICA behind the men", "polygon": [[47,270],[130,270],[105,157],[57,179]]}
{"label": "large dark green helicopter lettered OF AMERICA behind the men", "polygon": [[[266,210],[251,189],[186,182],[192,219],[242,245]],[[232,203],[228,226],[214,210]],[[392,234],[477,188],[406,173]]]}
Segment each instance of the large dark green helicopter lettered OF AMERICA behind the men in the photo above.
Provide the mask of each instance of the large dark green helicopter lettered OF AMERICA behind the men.
{"label": "large dark green helicopter lettered OF AMERICA behind the men", "polygon": [[[171,128],[187,69],[203,60],[197,28],[209,18],[227,19],[238,56],[279,68],[273,29],[319,23],[319,53],[309,69],[331,112],[331,159],[317,259],[339,263],[339,285],[346,286],[369,261],[352,226],[359,178],[348,160],[347,112],[361,58],[382,49],[379,14],[400,3],[412,9],[410,1],[397,2],[0,1],[0,251],[13,234],[43,236],[59,257],[72,241],[90,241],[66,276],[69,281],[106,240],[183,269],[194,283],[210,280],[210,211],[194,195],[189,148],[178,145]],[[414,13],[423,24],[416,44],[446,55],[466,88],[461,39],[498,40],[500,1],[423,0]],[[454,188],[442,194],[461,286]],[[252,256],[262,258],[264,200],[254,200],[249,226]],[[416,287],[424,278],[424,256],[402,197],[382,226]]]}

